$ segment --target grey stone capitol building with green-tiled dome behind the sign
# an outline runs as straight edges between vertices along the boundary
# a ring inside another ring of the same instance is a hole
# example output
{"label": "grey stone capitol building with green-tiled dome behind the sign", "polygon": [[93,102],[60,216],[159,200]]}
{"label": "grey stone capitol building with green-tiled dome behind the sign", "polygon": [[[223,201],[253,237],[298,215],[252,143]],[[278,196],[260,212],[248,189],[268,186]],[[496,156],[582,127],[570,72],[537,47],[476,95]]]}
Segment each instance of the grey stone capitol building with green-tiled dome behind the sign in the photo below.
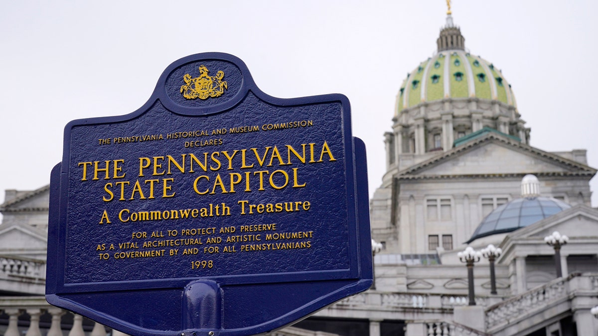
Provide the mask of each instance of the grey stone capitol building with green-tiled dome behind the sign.
{"label": "grey stone capitol building with green-tiled dome behind the sign", "polygon": [[[530,145],[508,79],[450,11],[436,45],[397,83],[386,156],[369,158],[386,166],[373,287],[272,335],[598,334],[597,170],[584,149]],[[46,303],[49,195],[7,190],[0,204],[0,335],[122,334]]]}

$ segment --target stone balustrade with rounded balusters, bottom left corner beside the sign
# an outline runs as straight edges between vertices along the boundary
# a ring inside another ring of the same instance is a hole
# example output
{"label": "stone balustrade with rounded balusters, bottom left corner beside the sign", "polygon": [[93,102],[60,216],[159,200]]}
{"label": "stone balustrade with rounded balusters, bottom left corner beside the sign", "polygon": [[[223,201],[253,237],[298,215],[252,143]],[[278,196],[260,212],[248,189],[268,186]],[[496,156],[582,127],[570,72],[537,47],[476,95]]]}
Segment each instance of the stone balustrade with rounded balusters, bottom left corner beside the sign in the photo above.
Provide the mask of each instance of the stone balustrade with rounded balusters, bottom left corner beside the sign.
{"label": "stone balustrade with rounded balusters, bottom left corner beside the sign", "polygon": [[[4,336],[106,336],[106,328],[83,316],[50,306],[44,297],[0,297],[0,315],[8,316],[8,323],[0,323]],[[85,325],[84,325],[85,324]],[[93,327],[92,327],[93,325]],[[65,328],[66,329],[63,329]],[[113,336],[126,336],[112,330]]]}

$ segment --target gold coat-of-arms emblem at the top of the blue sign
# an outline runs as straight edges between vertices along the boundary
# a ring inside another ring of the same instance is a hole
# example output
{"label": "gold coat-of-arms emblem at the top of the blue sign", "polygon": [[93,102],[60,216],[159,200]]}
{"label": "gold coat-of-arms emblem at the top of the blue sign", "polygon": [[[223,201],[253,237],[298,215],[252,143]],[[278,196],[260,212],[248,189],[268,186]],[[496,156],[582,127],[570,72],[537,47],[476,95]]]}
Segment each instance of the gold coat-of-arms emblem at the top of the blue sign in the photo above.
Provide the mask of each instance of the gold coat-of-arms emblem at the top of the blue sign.
{"label": "gold coat-of-arms emblem at the top of the blue sign", "polygon": [[208,75],[210,71],[205,65],[199,66],[199,76],[192,78],[190,74],[183,76],[185,85],[181,86],[181,93],[187,99],[208,99],[208,97],[218,97],[224,90],[227,90],[228,84],[223,81],[224,72],[218,71],[215,76]]}

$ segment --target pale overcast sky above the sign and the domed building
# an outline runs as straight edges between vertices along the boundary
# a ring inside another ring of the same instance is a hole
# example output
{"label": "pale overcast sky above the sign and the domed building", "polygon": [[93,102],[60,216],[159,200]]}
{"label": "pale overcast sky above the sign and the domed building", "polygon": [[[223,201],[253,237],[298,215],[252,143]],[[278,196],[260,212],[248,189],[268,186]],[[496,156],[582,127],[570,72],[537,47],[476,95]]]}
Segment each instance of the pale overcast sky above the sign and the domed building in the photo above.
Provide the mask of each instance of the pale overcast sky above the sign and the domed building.
{"label": "pale overcast sky above the sign and the domed building", "polygon": [[[454,0],[451,9],[465,47],[512,85],[531,144],[585,148],[598,167],[598,2]],[[166,66],[206,51],[240,57],[274,97],[349,97],[371,195],[396,93],[434,53],[446,10],[443,0],[2,1],[0,201],[6,189],[49,183],[68,121],[135,111]]]}

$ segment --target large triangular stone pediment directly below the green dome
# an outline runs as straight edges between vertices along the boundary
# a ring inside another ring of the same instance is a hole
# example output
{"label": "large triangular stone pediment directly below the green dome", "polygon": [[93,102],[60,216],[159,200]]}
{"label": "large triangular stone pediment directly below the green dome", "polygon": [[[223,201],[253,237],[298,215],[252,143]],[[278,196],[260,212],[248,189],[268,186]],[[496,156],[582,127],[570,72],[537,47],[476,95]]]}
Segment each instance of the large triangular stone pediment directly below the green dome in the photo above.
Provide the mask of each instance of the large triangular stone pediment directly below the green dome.
{"label": "large triangular stone pediment directly below the green dome", "polygon": [[590,175],[596,169],[489,133],[399,172],[399,178],[427,176]]}

